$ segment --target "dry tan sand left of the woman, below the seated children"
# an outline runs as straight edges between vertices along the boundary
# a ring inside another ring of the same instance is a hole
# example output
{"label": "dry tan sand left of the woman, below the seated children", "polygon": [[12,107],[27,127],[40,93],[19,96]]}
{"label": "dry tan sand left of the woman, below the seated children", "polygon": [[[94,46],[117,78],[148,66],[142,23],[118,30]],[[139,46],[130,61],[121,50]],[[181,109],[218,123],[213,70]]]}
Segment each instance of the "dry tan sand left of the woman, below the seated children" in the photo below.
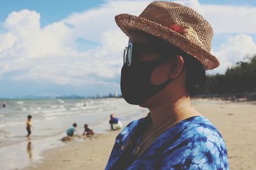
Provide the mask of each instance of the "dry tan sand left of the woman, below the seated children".
{"label": "dry tan sand left of the woman, below the seated children", "polygon": [[[104,169],[120,131],[95,134],[84,141],[67,141],[65,145],[45,150],[41,159],[31,162],[22,170],[29,169]],[[102,141],[104,144],[102,145]]]}

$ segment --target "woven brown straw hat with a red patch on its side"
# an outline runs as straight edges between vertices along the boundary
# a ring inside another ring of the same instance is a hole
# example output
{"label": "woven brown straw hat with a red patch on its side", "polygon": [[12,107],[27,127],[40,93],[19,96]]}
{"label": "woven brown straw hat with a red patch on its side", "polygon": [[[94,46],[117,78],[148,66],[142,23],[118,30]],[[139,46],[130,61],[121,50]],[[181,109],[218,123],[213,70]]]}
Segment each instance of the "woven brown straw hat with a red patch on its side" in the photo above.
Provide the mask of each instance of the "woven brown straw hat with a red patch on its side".
{"label": "woven brown straw hat with a red patch on its side", "polygon": [[129,36],[133,30],[147,32],[202,62],[205,70],[220,66],[211,54],[212,27],[202,15],[177,3],[154,1],[139,17],[120,14],[116,24]]}

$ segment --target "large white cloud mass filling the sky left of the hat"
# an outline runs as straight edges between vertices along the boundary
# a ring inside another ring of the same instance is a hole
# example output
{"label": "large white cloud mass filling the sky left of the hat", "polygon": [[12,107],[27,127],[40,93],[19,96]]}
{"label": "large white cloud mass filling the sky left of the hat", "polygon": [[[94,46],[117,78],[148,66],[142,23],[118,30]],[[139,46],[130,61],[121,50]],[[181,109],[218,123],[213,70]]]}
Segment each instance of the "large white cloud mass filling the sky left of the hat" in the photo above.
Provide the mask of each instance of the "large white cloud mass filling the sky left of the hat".
{"label": "large white cloud mass filling the sky left of the hat", "polygon": [[[113,85],[109,80],[119,76],[122,53],[127,45],[127,37],[115,25],[114,17],[125,12],[138,14],[148,4],[136,1],[138,6],[134,8],[134,3],[108,1],[99,8],[73,13],[43,28],[36,11],[10,13],[4,22],[8,32],[0,34],[9,42],[0,42],[1,75],[20,71],[13,80]],[[81,52],[75,48],[79,38],[96,41],[99,46]]]}

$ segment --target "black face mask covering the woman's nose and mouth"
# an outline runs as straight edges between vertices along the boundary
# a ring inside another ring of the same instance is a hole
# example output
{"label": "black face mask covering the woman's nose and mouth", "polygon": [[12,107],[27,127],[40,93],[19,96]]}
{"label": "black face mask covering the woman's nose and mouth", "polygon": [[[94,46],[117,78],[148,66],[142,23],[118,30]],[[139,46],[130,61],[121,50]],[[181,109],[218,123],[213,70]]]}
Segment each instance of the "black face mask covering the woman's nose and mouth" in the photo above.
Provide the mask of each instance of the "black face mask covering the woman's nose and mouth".
{"label": "black face mask covering the woman's nose and mouth", "polygon": [[136,61],[131,66],[124,64],[121,71],[121,92],[129,104],[142,104],[170,84],[169,78],[161,85],[152,85],[150,76],[163,60]]}

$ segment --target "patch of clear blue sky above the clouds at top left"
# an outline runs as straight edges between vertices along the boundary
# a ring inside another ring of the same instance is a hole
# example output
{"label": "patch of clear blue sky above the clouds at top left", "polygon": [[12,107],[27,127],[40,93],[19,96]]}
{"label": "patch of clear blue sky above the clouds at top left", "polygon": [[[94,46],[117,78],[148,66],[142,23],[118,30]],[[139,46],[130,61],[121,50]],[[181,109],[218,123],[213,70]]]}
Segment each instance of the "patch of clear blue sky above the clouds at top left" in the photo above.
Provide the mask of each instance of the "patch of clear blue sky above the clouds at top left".
{"label": "patch of clear blue sky above the clouds at top left", "polygon": [[84,1],[84,0],[4,0],[0,6],[0,20],[5,20],[12,11],[24,9],[38,11],[41,15],[41,24],[45,25],[61,20],[70,13],[82,12],[97,8],[104,1]]}

